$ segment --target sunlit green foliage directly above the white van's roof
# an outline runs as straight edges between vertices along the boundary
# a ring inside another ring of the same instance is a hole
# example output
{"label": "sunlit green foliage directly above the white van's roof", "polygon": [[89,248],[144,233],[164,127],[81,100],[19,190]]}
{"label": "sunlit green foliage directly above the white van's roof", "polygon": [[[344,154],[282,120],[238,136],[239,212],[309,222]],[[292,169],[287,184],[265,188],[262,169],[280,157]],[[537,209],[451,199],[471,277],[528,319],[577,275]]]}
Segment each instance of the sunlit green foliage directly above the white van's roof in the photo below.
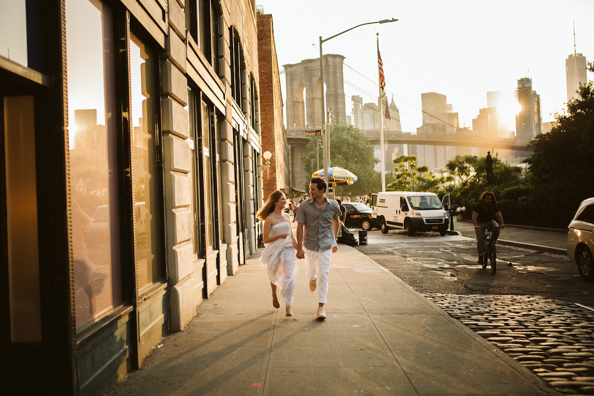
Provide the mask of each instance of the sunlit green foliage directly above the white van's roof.
{"label": "sunlit green foliage directly above the white van's roof", "polygon": [[387,191],[437,191],[447,181],[429,172],[427,166],[417,166],[416,156],[400,156],[394,163],[396,167],[388,172],[394,181],[386,186]]}

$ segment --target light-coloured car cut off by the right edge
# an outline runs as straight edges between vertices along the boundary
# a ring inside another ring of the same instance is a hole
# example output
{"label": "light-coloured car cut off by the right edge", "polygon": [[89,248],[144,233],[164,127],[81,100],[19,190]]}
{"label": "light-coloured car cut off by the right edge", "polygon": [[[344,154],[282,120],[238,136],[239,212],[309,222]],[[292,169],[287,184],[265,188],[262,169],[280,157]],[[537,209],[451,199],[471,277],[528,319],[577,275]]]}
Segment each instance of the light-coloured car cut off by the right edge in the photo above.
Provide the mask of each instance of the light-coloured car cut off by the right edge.
{"label": "light-coloured car cut off by the right edge", "polygon": [[567,255],[577,264],[582,278],[594,281],[594,198],[585,199],[567,227]]}

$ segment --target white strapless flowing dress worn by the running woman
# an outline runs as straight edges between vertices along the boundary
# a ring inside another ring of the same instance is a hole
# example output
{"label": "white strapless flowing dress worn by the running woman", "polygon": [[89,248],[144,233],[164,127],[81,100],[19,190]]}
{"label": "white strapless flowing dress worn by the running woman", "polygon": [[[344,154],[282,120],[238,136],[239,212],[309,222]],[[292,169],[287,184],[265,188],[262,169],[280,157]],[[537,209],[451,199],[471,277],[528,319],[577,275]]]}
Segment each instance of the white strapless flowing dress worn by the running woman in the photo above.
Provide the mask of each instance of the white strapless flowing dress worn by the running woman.
{"label": "white strapless flowing dress worn by the running woman", "polygon": [[293,292],[299,268],[295,256],[295,248],[291,240],[290,224],[287,221],[274,224],[270,227],[270,235],[288,234],[284,239],[266,243],[260,256],[263,268],[268,269],[268,278],[271,283],[280,287],[280,295],[285,300],[286,306],[293,306]]}

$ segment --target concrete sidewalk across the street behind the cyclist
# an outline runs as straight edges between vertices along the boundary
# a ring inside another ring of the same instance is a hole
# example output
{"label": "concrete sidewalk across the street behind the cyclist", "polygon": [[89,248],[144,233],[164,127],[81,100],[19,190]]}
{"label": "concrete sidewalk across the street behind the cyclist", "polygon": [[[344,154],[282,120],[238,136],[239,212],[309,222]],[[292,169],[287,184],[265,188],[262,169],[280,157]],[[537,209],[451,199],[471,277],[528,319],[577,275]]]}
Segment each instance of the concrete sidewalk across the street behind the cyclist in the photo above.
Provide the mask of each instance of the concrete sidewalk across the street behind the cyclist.
{"label": "concrete sidewalk across the street behind the cyclist", "polygon": [[[454,232],[476,238],[472,221],[456,221]],[[505,226],[499,236],[501,245],[518,246],[543,252],[567,255],[567,230],[548,230],[534,227]]]}

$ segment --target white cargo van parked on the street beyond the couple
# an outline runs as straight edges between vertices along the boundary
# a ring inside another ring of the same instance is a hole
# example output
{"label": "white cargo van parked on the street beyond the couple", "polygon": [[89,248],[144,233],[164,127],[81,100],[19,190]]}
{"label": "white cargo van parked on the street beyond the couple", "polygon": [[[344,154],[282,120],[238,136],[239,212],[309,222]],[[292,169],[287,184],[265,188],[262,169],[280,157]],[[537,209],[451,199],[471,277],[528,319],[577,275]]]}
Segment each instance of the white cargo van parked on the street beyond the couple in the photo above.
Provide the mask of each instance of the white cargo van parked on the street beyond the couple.
{"label": "white cargo van parked on the street beyond the couple", "polygon": [[378,192],[371,195],[371,211],[384,234],[390,229],[404,229],[408,235],[435,231],[444,236],[450,224],[447,210],[432,192]]}

